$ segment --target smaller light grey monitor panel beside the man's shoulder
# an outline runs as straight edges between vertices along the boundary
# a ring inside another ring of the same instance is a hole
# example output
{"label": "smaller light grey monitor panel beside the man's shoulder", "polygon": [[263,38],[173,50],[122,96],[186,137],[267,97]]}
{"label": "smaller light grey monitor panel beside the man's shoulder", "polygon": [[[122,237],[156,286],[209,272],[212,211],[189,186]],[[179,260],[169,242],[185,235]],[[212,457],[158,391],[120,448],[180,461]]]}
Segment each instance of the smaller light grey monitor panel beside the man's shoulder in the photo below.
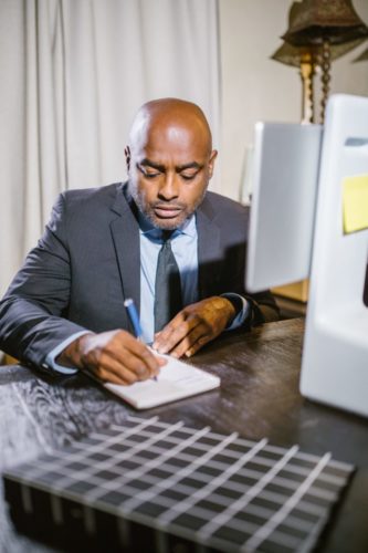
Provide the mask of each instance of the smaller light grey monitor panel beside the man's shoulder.
{"label": "smaller light grey monitor panel beside the man's shoulder", "polygon": [[319,125],[257,123],[245,285],[250,292],[308,276]]}

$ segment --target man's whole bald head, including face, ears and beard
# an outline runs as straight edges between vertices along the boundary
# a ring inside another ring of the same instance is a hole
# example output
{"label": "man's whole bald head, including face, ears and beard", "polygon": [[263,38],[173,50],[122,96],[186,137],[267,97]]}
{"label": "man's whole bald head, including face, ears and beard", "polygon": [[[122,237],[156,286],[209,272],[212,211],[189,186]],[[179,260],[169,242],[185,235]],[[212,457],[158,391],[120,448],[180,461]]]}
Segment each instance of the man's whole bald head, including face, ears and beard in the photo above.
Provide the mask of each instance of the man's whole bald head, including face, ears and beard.
{"label": "man's whole bald head, including face, ears and beard", "polygon": [[162,98],[140,107],[125,155],[140,212],[156,227],[176,229],[201,204],[217,152],[200,107]]}

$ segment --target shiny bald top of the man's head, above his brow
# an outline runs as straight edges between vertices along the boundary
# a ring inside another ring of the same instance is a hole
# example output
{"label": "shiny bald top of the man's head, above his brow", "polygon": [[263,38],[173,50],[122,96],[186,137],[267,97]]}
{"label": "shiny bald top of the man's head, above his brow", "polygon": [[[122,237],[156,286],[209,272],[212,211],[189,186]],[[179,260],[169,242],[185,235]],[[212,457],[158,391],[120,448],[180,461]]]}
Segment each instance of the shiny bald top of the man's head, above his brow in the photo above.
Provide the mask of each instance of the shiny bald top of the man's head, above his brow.
{"label": "shiny bald top of the man's head, above his brow", "polygon": [[212,136],[202,109],[191,103],[178,98],[160,98],[144,104],[135,116],[129,134],[130,150],[140,148],[153,137],[160,142],[164,138],[179,137],[183,133],[192,135],[196,142],[210,154]]}

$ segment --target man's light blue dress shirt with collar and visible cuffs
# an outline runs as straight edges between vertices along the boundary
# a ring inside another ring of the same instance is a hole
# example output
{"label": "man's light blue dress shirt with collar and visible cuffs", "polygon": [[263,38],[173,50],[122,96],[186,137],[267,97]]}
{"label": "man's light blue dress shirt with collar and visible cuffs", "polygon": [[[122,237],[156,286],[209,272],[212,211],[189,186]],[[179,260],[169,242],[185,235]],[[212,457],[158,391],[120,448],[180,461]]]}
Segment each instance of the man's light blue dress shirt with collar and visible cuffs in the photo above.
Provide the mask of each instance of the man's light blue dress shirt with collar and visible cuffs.
{"label": "man's light blue dress shirt with collar and visible cuffs", "polygon": [[[154,341],[154,303],[155,303],[155,279],[158,253],[162,246],[160,229],[155,228],[147,219],[139,213],[139,243],[140,243],[140,327],[143,340],[147,344]],[[190,305],[198,301],[198,233],[196,216],[191,216],[181,228],[177,229],[171,238],[171,249],[177,260],[180,281],[181,296],[183,305]],[[232,321],[227,330],[239,327],[250,313],[250,304],[242,296],[234,293],[222,294],[225,298],[240,298],[242,310]],[[44,367],[53,368],[63,374],[73,374],[77,369],[64,367],[55,363],[57,355],[67,347],[74,340],[87,334],[88,331],[78,332],[69,336],[59,346],[52,349],[46,356]]]}

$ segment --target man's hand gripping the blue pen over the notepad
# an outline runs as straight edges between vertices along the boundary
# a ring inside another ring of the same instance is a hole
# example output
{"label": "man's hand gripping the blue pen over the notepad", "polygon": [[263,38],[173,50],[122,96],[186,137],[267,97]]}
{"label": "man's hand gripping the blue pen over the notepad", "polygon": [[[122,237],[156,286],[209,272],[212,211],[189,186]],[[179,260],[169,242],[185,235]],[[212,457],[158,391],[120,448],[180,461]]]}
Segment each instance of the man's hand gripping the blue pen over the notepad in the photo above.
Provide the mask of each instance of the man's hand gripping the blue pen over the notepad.
{"label": "man's hand gripping the blue pen over the notepad", "polygon": [[101,380],[133,384],[153,378],[166,361],[126,331],[84,334],[72,342],[56,363],[88,371]]}

